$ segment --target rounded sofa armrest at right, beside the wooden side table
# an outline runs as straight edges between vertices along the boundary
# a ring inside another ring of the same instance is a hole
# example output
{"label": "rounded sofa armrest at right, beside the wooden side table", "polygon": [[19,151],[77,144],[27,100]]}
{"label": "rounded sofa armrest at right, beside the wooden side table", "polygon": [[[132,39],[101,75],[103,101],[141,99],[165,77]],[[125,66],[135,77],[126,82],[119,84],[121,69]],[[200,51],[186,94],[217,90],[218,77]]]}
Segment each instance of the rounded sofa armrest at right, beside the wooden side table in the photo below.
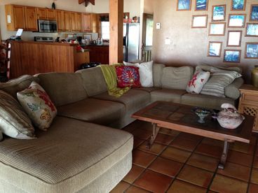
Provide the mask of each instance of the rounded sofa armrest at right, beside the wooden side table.
{"label": "rounded sofa armrest at right, beside the wooden side table", "polygon": [[243,85],[244,80],[243,78],[236,78],[233,83],[231,83],[229,86],[225,87],[225,96],[229,97],[231,99],[238,99],[240,96],[239,88],[241,85]]}

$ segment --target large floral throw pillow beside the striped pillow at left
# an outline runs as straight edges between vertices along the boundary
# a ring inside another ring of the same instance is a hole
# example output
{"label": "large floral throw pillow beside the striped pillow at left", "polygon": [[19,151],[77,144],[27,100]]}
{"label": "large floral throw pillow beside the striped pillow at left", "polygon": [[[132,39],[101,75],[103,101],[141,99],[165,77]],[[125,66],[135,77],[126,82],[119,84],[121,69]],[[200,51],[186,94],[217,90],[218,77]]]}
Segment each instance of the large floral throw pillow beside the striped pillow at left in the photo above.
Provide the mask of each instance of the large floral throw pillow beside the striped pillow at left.
{"label": "large floral throw pillow beside the striped pillow at left", "polygon": [[36,82],[17,93],[17,98],[36,127],[46,131],[57,115],[57,109],[45,90]]}

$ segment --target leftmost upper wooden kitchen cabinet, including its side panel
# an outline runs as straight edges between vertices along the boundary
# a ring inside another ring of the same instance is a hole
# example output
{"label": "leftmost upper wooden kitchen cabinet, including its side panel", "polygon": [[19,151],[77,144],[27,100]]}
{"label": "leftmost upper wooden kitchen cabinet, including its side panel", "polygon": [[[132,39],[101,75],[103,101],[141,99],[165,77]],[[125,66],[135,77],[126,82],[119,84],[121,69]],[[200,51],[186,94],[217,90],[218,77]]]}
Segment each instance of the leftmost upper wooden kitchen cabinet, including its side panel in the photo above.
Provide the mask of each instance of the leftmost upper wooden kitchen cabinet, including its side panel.
{"label": "leftmost upper wooden kitchen cabinet, including its side panel", "polygon": [[6,27],[9,31],[25,29],[25,6],[6,5]]}

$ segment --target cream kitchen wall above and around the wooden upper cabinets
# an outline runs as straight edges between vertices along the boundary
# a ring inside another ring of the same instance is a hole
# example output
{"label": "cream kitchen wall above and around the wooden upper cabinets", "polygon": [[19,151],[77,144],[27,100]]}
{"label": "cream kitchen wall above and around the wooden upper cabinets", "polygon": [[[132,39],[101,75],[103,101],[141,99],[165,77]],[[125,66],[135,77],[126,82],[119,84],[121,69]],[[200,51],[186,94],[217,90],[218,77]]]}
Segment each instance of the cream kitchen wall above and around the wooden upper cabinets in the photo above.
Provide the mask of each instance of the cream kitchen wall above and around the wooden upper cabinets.
{"label": "cream kitchen wall above and around the wooden upper cabinets", "polygon": [[[89,4],[85,7],[84,4],[79,5],[78,0],[56,0],[55,6],[57,9],[72,10],[78,12],[89,12],[89,13],[109,13],[109,0],[96,0],[95,6]],[[17,4],[24,6],[36,6],[36,7],[48,7],[51,8],[52,0],[1,0],[0,1],[0,30],[1,38],[3,40],[15,35],[15,31],[7,31],[6,29],[6,18],[5,18],[5,4]],[[130,17],[140,17],[140,0],[124,0],[124,12],[129,12]],[[63,33],[35,33],[31,31],[25,31],[22,34],[23,40],[33,40],[34,36],[52,36],[63,37]]]}

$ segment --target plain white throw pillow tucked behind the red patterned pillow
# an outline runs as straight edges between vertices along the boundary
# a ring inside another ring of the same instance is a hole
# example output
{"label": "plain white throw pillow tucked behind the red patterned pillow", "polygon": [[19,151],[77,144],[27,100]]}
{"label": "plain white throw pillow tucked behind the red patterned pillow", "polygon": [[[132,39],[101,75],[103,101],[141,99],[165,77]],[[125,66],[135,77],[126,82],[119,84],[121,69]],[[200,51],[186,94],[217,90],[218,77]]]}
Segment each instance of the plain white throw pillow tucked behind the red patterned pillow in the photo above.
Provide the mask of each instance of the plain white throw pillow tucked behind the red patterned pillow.
{"label": "plain white throw pillow tucked behind the red patterned pillow", "polygon": [[140,83],[142,87],[153,87],[153,61],[151,62],[143,62],[143,63],[129,63],[129,62],[123,62],[125,66],[136,66],[139,68],[140,73]]}

